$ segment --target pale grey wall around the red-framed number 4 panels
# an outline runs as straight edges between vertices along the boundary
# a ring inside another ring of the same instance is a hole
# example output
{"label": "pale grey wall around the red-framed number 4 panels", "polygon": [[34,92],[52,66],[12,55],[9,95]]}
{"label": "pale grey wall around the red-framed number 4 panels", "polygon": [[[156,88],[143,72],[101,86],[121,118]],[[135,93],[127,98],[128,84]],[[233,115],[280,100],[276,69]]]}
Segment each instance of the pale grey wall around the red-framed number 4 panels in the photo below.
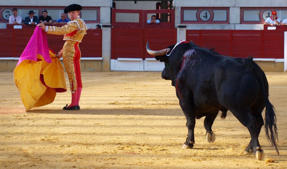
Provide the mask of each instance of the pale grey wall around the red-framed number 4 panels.
{"label": "pale grey wall around the red-framed number 4 panels", "polygon": [[181,7],[230,7],[230,24],[186,24],[187,29],[263,30],[263,24],[240,24],[240,7],[287,7],[287,0],[174,0],[173,4],[175,26],[181,22]]}

